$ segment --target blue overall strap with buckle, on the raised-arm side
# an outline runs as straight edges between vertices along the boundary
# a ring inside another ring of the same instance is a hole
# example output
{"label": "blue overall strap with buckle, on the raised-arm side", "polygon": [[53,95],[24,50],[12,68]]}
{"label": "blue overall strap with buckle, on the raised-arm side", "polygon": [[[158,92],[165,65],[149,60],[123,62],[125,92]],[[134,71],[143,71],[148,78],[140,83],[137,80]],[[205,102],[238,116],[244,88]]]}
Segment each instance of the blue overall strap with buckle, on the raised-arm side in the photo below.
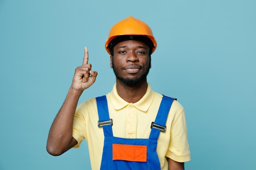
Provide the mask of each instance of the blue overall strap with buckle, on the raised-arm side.
{"label": "blue overall strap with buckle, on the raised-arm side", "polygon": [[97,101],[97,108],[98,108],[98,115],[99,115],[99,121],[98,121],[98,127],[103,128],[104,136],[112,137],[112,119],[109,118],[108,113],[108,102],[106,95],[101,97],[96,97]]}

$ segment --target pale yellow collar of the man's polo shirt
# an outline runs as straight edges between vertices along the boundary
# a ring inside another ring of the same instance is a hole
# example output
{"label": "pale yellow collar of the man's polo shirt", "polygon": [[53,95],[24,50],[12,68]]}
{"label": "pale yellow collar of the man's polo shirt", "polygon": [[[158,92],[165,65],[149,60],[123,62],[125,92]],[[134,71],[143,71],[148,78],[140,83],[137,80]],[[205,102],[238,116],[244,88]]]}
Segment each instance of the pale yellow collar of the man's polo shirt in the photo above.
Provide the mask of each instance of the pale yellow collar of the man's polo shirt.
{"label": "pale yellow collar of the man's polo shirt", "polygon": [[[110,99],[113,107],[116,110],[120,110],[121,108],[124,108],[125,106],[130,104],[117,94],[116,84],[114,85],[112,91],[110,92]],[[146,112],[150,107],[151,103],[153,102],[153,99],[154,99],[154,92],[152,91],[150,85],[148,84],[148,88],[145,95],[138,102],[133,103],[133,105],[139,110]]]}

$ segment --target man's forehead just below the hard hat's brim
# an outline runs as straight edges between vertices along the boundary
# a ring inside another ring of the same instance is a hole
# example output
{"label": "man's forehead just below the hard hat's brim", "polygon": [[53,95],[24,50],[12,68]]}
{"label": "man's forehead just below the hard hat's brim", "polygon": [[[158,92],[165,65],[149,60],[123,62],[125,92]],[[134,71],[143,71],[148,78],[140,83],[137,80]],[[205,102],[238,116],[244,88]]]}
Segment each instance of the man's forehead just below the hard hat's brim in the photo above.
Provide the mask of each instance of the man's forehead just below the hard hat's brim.
{"label": "man's forehead just below the hard hat's brim", "polygon": [[147,44],[136,40],[126,40],[119,42],[117,45],[114,46],[114,49],[119,48],[144,48],[146,50],[149,50],[149,46]]}

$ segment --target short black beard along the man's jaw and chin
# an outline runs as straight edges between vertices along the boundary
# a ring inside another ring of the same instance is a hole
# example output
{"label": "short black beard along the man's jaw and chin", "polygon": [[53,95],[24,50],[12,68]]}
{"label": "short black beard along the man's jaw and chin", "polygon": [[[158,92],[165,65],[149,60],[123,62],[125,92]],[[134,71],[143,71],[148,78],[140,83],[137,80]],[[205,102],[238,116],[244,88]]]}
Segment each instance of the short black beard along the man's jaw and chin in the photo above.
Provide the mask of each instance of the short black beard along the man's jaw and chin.
{"label": "short black beard along the man's jaw and chin", "polygon": [[[123,82],[124,84],[126,84],[129,87],[135,87],[135,86],[139,86],[147,78],[147,75],[148,75],[149,69],[150,69],[150,64],[148,64],[148,66],[146,66],[146,70],[145,70],[144,74],[142,74],[140,77],[137,77],[134,79],[121,77],[119,74],[120,70],[115,66],[113,60],[112,60],[112,67],[113,67],[113,71],[114,71],[117,79],[119,79],[121,82]],[[143,67],[145,67],[145,66],[143,66]]]}

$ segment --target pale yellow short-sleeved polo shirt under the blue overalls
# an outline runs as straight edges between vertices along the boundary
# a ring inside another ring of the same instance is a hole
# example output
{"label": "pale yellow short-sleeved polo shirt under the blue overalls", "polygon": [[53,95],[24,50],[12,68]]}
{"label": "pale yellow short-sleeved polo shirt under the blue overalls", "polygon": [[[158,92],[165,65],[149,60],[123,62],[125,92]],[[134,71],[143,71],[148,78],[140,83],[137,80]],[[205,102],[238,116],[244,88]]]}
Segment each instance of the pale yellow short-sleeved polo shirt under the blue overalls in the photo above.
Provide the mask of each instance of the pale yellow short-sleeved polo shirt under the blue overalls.
{"label": "pale yellow short-sleeved polo shirt under the blue overalls", "polygon": [[[117,94],[116,84],[111,93],[106,95],[110,119],[113,119],[113,135],[121,138],[148,139],[151,122],[155,121],[162,95],[151,90],[136,103],[128,103]],[[96,99],[83,102],[76,108],[73,123],[73,137],[79,148],[86,139],[89,147],[92,170],[99,170],[103,153],[104,134],[97,122]],[[166,157],[178,162],[190,160],[189,143],[187,141],[186,119],[183,107],[173,101],[166,121],[166,132],[160,132],[157,140],[157,155],[161,170],[168,170]]]}

